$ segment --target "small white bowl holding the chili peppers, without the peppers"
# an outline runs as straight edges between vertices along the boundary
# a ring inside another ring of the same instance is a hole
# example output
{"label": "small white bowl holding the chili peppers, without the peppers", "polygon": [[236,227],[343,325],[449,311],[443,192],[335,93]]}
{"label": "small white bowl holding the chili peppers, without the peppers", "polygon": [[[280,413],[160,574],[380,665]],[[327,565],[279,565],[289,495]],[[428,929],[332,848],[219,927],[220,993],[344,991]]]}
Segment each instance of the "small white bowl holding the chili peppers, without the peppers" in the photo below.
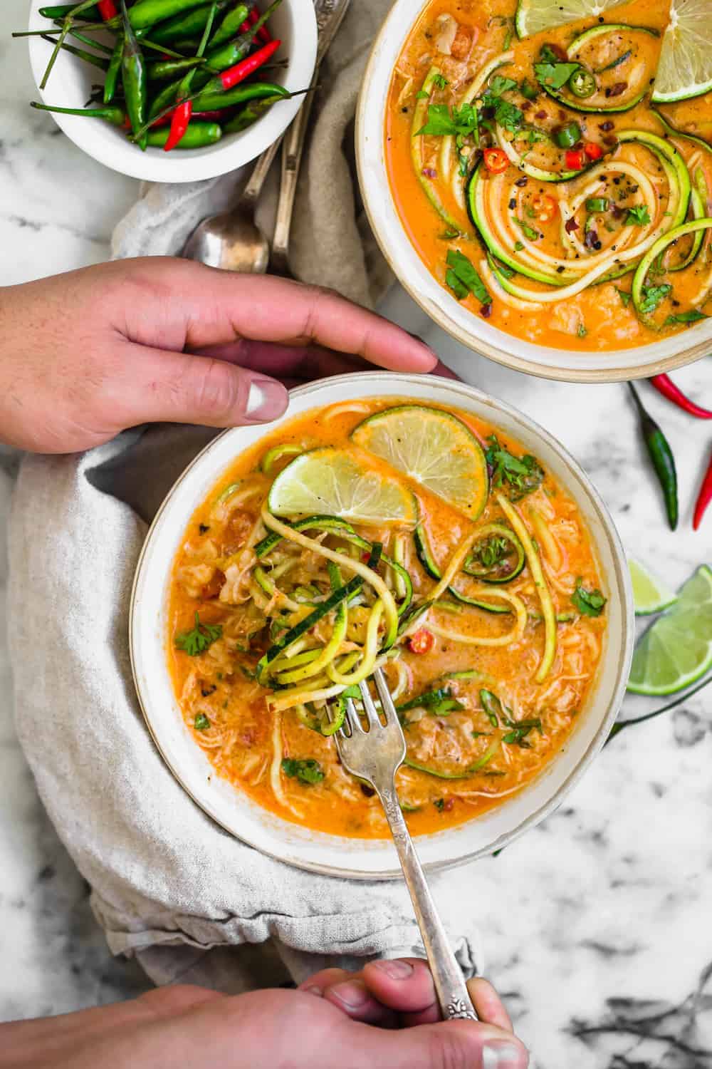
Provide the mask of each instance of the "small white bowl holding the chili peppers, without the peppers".
{"label": "small white bowl holding the chili peppers, without the peppers", "polygon": [[[44,0],[32,0],[30,30],[51,26],[39,15],[43,5]],[[270,19],[270,29],[275,37],[284,42],[278,57],[285,56],[289,60],[286,67],[271,73],[270,78],[292,92],[306,89],[316,63],[317,29],[313,0],[283,0]],[[32,73],[38,87],[52,49],[42,37],[28,37],[28,41]],[[72,37],[67,37],[67,42],[83,47]],[[37,89],[37,92],[45,104],[82,108],[89,99],[92,83],[102,80],[100,71],[68,52],[62,52],[47,88]],[[237,170],[259,156],[285,131],[303,99],[303,96],[296,96],[291,100],[279,102],[253,126],[241,134],[228,134],[217,144],[206,149],[176,149],[174,152],[163,152],[162,149],[141,152],[123,130],[98,119],[57,113],[53,118],[82,152],[113,171],[145,182],[196,182]]]}

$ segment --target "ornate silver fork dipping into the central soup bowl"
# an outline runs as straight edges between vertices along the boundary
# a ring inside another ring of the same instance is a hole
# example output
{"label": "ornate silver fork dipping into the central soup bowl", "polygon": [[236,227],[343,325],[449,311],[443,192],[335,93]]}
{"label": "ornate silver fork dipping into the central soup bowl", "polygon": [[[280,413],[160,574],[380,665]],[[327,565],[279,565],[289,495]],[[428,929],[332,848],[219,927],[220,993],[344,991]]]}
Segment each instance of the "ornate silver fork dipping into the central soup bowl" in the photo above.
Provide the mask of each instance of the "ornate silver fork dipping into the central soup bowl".
{"label": "ornate silver fork dipping into the central soup bowl", "polygon": [[378,710],[368,690],[368,683],[359,684],[361,700],[368,722],[365,731],[351,698],[346,701],[346,716],[334,739],[344,768],[364,779],[374,788],[391,826],[393,841],[415,911],[423,945],[430,963],[438,1002],[443,1018],[468,1018],[476,1021],[474,1007],[468,994],[460,966],[447,941],[445,929],[438,916],[413,840],[398,804],[395,774],[406,757],[406,740],[398,721],[385,677],[377,668],[371,679],[381,700],[385,725],[381,724]]}

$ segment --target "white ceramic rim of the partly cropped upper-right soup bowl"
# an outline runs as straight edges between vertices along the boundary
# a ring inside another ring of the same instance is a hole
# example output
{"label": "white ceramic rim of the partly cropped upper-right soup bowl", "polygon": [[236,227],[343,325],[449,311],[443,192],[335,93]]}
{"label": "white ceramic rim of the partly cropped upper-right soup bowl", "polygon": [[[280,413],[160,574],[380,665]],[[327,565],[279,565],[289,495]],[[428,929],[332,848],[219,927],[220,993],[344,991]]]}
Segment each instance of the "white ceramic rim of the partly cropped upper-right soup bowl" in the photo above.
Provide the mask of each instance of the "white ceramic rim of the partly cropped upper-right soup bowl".
{"label": "white ceramic rim of the partly cropped upper-right soup bowl", "polygon": [[383,151],[384,112],[391,75],[425,6],[423,0],[420,3],[395,0],[376,38],[361,83],[355,127],[359,180],[366,213],[383,255],[411,297],[463,345],[518,371],[545,378],[613,382],[648,377],[706,356],[712,343],[712,319],[638,348],[608,353],[567,352],[521,341],[499,330],[463,308],[432,277],[411,245],[396,211]]}

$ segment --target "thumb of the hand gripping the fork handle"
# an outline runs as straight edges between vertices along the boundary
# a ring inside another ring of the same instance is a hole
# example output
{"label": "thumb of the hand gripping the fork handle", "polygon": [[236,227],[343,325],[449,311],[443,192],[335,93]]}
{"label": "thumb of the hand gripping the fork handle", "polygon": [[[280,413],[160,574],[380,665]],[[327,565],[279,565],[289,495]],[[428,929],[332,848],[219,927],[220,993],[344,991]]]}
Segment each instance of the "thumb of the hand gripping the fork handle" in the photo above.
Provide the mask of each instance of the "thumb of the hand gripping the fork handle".
{"label": "thumb of the hand gripping the fork handle", "polygon": [[354,1067],[389,1066],[389,1069],[526,1069],[526,1048],[511,1033],[476,1021],[442,1021],[400,1032],[345,1022],[358,1029],[351,1050],[362,1060]]}

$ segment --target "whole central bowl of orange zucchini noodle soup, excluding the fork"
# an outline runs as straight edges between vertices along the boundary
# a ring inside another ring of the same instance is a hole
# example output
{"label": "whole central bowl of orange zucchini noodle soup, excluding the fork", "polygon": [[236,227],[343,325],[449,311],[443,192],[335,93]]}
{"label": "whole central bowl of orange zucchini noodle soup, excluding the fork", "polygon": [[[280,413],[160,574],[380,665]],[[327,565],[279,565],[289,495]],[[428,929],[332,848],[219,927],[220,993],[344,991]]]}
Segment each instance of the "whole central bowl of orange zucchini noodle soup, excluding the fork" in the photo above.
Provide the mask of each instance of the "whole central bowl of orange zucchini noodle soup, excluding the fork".
{"label": "whole central bowl of orange zucchini noodle soup, excluding the fork", "polygon": [[[348,396],[351,400],[343,402]],[[398,874],[331,734],[382,664],[408,742],[397,787],[430,867],[543,819],[624,693],[628,571],[558,443],[471,387],[364,373],[221,434],[151,529],[131,611],[148,727],[193,799],[267,853]]]}

